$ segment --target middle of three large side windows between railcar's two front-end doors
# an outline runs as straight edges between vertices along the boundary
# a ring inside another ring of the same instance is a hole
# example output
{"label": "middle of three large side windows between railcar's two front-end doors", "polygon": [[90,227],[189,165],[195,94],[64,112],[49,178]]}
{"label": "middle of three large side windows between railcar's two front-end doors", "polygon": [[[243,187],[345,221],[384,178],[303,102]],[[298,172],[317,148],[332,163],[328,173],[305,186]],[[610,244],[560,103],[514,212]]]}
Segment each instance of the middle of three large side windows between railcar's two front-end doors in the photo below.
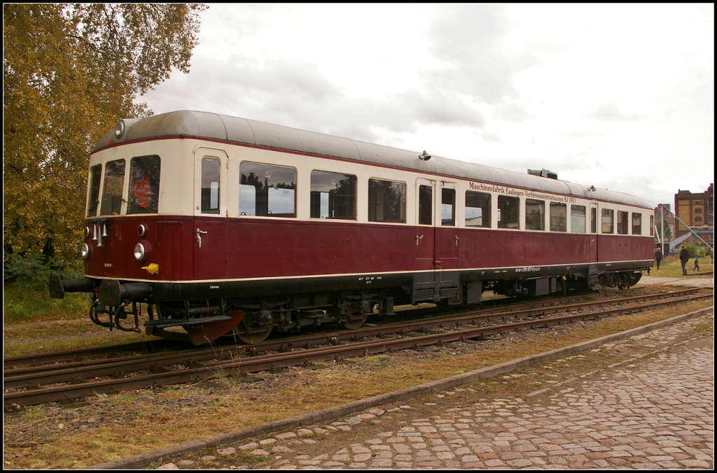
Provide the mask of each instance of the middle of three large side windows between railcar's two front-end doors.
{"label": "middle of three large side windows between railcar's two front-end doors", "polygon": [[311,171],[311,218],[356,220],[356,176]]}

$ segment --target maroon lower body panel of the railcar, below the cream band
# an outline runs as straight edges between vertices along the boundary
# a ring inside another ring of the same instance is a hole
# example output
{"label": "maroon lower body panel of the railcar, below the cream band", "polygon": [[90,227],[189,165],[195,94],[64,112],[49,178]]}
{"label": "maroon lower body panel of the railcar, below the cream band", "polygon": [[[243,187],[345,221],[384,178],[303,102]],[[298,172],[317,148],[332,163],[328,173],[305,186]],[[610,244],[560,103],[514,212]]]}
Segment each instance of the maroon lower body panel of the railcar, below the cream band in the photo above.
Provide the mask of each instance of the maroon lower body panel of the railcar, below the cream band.
{"label": "maroon lower body panel of the railcar, below the cream band", "polygon": [[[136,231],[140,223],[143,236]],[[90,249],[88,277],[227,282],[534,267],[561,274],[591,264],[652,261],[652,238],[645,236],[161,216],[110,221],[107,231],[102,245]],[[141,262],[133,257],[138,242],[148,247]],[[157,265],[156,274],[149,264]]]}

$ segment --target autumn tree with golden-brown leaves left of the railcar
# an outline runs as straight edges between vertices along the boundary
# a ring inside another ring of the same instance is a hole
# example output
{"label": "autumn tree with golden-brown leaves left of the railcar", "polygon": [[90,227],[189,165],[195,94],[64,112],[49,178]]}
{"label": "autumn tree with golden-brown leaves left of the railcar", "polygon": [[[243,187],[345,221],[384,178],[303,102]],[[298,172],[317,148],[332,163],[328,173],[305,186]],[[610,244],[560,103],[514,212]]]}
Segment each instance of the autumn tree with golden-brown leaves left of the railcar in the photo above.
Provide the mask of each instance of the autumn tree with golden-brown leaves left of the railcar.
{"label": "autumn tree with golden-brown leaves left of the railcar", "polygon": [[[189,72],[198,4],[4,4],[4,261],[77,254],[92,146]],[[53,261],[54,260],[54,261]]]}

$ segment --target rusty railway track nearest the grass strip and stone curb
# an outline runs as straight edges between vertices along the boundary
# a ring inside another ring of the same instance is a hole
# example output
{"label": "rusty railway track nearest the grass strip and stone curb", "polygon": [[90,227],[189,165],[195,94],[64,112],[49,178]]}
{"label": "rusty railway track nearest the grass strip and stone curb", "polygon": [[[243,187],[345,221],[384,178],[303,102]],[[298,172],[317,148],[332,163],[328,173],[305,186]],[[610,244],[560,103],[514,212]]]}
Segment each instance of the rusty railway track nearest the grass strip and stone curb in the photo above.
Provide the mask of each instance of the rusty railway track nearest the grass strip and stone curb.
{"label": "rusty railway track nearest the grass strip and stone curb", "polygon": [[[711,294],[694,295],[697,291],[698,289],[691,289],[549,307],[522,305],[513,307],[512,310],[493,309],[462,312],[427,317],[422,320],[366,326],[357,330],[283,338],[250,347],[213,347],[181,352],[133,355],[112,360],[95,359],[10,368],[4,371],[6,390],[4,408],[65,401],[98,393],[255,373],[330,358],[350,358],[356,355],[417,348],[455,340],[480,338],[495,333],[638,312],[663,305],[712,297]],[[606,310],[603,308],[605,305],[612,307]],[[569,314],[548,316],[556,312],[569,312]],[[525,320],[498,325],[494,323],[510,318]],[[478,326],[460,329],[465,325]],[[437,333],[416,335],[416,333],[426,330]],[[369,337],[373,339],[346,343],[347,340]],[[279,353],[276,353],[277,351]],[[143,371],[147,373],[142,373]],[[134,374],[129,376],[128,373]],[[97,378],[100,377],[110,378],[98,381]],[[90,379],[93,381],[87,381]]]}

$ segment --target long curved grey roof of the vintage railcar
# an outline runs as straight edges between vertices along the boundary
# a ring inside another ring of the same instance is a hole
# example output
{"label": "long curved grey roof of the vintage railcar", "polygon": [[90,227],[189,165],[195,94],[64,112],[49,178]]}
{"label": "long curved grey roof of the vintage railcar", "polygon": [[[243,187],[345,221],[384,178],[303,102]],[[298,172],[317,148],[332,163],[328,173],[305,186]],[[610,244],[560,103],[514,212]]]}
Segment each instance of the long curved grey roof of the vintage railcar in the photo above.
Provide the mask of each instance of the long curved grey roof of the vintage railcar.
{"label": "long curved grey roof of the vintage railcar", "polygon": [[376,145],[365,141],[351,140],[217,113],[179,110],[153,115],[148,118],[121,121],[125,125],[123,135],[120,138],[116,138],[114,131],[107,133],[97,143],[95,151],[115,143],[160,138],[162,136],[210,138],[406,168],[443,176],[455,176],[485,183],[516,186],[536,192],[550,192],[649,208],[642,199],[631,194],[601,188],[589,191],[590,186],[587,185],[533,176],[527,172],[523,174],[482,164],[456,161],[455,159],[440,156],[432,156],[428,161],[422,161],[418,158],[420,151],[406,151],[391,148],[390,146]]}

